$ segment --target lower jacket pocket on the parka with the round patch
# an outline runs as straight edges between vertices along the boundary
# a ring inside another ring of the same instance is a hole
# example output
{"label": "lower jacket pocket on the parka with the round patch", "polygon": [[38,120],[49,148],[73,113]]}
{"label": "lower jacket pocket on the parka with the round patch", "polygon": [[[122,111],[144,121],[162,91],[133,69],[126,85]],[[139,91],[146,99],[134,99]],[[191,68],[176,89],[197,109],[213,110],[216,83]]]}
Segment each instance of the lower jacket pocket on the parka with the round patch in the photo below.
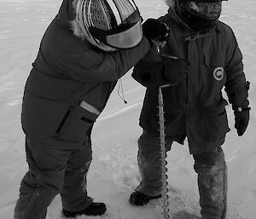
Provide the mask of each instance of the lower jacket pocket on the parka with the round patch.
{"label": "lower jacket pocket on the parka with the round patch", "polygon": [[230,131],[226,105],[228,102],[222,99],[217,105],[207,107],[207,138],[211,141],[223,138]]}

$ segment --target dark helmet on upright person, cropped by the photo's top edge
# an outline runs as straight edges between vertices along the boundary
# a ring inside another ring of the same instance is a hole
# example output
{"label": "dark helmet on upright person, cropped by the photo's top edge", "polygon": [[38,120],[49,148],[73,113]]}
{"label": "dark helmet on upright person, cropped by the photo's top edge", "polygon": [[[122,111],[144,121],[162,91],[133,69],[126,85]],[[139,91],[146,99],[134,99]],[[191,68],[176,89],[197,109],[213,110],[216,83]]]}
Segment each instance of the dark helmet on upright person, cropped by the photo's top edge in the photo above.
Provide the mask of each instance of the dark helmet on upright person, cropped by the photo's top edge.
{"label": "dark helmet on upright person, cropped by the photo's top edge", "polygon": [[222,0],[177,0],[176,9],[180,19],[191,29],[211,29],[221,14]]}

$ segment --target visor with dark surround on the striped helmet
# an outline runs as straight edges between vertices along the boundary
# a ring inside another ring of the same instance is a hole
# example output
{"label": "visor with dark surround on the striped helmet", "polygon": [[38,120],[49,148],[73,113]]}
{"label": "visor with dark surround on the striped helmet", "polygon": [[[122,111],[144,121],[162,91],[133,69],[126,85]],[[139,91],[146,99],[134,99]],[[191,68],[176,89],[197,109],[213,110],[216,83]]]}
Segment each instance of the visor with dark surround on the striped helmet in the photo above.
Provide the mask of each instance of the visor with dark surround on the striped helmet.
{"label": "visor with dark surround on the striped helmet", "polygon": [[131,49],[137,46],[143,38],[142,17],[139,11],[135,10],[113,30],[102,30],[90,26],[89,31],[96,39],[113,48]]}

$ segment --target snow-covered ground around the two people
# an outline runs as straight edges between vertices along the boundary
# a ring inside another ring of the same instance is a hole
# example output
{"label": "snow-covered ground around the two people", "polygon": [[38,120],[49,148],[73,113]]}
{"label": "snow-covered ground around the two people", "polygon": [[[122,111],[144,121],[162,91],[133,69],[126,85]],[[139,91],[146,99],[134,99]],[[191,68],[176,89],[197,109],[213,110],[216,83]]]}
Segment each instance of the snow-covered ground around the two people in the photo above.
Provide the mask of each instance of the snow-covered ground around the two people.
{"label": "snow-covered ground around the two people", "polygon": [[[136,0],[144,20],[166,14],[162,0]],[[20,104],[26,77],[31,69],[45,28],[57,13],[61,0],[0,0],[0,218],[13,218],[21,177],[27,165],[24,135],[20,128]],[[221,20],[236,33],[251,81],[251,120],[245,135],[238,137],[234,117],[227,107],[231,131],[224,144],[229,167],[228,219],[256,218],[256,1],[224,2]],[[254,74],[253,74],[254,73]],[[108,205],[106,219],[160,218],[160,205],[152,201],[135,207],[130,193],[140,182],[137,170],[137,138],[142,130],[138,117],[145,89],[131,79],[123,80],[125,99],[115,89],[108,106],[93,130],[93,162],[88,192]],[[199,218],[198,192],[193,159],[188,146],[174,144],[168,153],[170,206],[175,219]],[[61,199],[49,206],[48,219],[61,218]]]}

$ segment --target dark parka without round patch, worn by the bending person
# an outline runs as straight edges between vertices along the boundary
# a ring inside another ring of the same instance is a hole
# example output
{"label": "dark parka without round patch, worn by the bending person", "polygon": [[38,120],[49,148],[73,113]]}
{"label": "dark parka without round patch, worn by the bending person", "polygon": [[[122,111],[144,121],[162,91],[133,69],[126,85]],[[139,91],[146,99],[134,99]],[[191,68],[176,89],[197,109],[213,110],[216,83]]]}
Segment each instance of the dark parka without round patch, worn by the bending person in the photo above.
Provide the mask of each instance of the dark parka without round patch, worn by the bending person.
{"label": "dark parka without round patch, worn by the bending person", "polygon": [[[136,48],[102,52],[74,36],[74,15],[73,1],[64,0],[44,33],[24,91],[22,128],[29,139],[50,147],[81,147],[97,115],[79,103],[102,112],[117,80],[149,49],[143,37]],[[67,137],[71,132],[77,136]]]}

